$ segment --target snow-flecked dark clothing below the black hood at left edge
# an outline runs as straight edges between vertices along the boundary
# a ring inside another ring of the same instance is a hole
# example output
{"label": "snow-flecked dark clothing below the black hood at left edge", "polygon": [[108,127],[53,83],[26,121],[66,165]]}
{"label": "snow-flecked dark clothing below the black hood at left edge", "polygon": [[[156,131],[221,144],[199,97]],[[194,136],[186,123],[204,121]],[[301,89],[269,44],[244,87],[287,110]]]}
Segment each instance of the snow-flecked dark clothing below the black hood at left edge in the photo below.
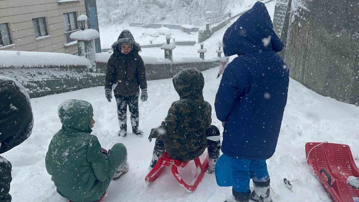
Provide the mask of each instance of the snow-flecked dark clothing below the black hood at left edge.
{"label": "snow-flecked dark clothing below the black hood at left edge", "polygon": [[0,202],[10,202],[11,164],[0,156]]}

